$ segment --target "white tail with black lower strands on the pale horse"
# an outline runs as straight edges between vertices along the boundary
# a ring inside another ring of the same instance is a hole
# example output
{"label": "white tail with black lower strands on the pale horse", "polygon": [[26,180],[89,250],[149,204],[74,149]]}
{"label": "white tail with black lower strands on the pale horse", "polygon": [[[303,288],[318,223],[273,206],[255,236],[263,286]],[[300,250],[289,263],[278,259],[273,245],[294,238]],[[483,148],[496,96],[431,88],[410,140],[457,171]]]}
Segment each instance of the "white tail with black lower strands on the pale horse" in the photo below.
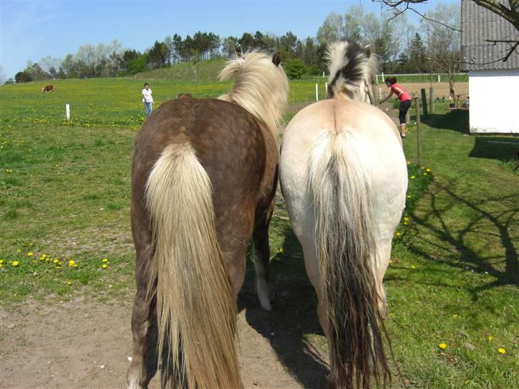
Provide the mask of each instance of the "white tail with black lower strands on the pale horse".
{"label": "white tail with black lower strands on the pale horse", "polygon": [[378,256],[369,175],[359,162],[355,143],[347,128],[324,133],[309,160],[321,276],[319,304],[326,313],[337,388],[369,388],[370,373],[377,385],[381,377],[386,383],[390,376],[376,289]]}

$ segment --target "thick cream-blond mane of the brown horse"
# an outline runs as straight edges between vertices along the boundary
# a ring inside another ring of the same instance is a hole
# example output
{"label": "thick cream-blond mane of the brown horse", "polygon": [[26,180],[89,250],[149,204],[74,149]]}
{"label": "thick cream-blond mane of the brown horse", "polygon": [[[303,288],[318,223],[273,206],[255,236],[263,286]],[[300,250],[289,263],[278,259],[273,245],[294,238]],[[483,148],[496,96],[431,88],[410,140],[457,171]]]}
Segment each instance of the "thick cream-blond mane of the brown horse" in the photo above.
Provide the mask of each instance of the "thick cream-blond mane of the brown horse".
{"label": "thick cream-blond mane of the brown horse", "polygon": [[218,78],[235,79],[230,93],[219,99],[245,108],[277,138],[288,95],[288,79],[282,66],[276,66],[267,54],[255,50],[228,61]]}

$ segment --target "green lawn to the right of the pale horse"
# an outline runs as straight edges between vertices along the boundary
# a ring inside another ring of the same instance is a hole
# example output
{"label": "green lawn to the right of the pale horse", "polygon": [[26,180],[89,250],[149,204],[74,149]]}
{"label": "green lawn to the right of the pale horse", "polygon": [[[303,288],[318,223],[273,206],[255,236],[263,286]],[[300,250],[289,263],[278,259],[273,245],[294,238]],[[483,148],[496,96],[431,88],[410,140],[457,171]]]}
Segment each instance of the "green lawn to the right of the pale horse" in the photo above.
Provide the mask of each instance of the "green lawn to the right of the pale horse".
{"label": "green lawn to the right of the pale horse", "polygon": [[[466,136],[467,114],[423,117],[435,180],[394,247],[387,326],[415,387],[518,388],[519,178],[500,158],[519,140]],[[404,145],[416,160],[416,127]]]}

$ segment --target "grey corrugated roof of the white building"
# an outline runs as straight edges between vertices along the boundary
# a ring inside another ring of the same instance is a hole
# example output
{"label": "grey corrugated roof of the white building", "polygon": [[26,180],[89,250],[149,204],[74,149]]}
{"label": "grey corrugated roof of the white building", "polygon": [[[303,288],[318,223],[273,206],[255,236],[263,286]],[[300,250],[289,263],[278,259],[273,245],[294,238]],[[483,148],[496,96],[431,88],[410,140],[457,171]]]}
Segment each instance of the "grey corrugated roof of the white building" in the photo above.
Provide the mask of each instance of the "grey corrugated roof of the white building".
{"label": "grey corrugated roof of the white building", "polygon": [[[500,0],[503,2],[503,0]],[[508,6],[503,2],[503,5]],[[461,68],[465,71],[488,69],[518,69],[519,50],[506,62],[498,61],[510,51],[510,43],[490,43],[486,40],[519,41],[515,27],[492,11],[472,0],[461,0]]]}

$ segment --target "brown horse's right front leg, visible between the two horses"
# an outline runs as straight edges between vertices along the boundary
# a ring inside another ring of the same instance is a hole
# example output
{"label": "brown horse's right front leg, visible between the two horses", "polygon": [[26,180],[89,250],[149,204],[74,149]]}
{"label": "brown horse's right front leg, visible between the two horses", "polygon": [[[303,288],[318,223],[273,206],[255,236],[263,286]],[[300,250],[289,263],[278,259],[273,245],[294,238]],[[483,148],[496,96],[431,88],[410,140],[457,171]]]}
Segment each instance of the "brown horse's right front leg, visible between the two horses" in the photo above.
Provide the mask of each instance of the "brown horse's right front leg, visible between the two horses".
{"label": "brown horse's right front leg, visible between the two horses", "polygon": [[269,299],[269,223],[273,211],[274,198],[269,207],[257,215],[253,233],[257,295],[265,311],[272,311]]}

